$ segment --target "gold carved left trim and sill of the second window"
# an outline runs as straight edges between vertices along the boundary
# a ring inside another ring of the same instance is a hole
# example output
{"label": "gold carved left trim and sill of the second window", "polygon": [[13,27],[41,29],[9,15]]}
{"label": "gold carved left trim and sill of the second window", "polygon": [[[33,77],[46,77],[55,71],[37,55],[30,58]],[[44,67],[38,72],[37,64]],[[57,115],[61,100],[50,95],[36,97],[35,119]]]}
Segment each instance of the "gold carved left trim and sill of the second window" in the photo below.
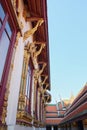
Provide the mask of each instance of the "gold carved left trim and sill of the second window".
{"label": "gold carved left trim and sill of the second window", "polygon": [[33,117],[25,111],[25,93],[26,93],[26,79],[27,79],[27,71],[28,71],[28,64],[30,60],[30,52],[28,46],[24,49],[24,60],[23,60],[23,69],[22,69],[22,76],[21,76],[21,85],[20,85],[20,92],[19,92],[19,101],[18,101],[18,109],[17,109],[17,117],[16,122],[21,124],[29,124],[33,120]]}

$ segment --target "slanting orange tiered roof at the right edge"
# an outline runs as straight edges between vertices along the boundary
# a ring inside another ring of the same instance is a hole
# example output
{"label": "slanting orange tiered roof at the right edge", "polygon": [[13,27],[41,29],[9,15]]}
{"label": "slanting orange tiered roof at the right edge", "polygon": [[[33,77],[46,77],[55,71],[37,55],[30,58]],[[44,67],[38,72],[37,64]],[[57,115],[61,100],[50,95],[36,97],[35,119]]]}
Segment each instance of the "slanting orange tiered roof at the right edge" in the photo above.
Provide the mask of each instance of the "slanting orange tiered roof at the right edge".
{"label": "slanting orange tiered roof at the right edge", "polygon": [[65,113],[61,123],[73,120],[85,119],[87,117],[87,84],[81,89],[70,108]]}

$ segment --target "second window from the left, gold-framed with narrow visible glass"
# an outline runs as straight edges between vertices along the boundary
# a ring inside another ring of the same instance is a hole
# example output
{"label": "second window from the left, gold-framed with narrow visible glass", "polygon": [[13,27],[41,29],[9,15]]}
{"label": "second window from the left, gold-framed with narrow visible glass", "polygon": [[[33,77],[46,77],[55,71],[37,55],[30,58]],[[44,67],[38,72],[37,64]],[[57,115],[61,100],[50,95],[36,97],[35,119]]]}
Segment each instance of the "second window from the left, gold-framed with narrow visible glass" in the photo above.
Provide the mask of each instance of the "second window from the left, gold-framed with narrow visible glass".
{"label": "second window from the left, gold-framed with narrow visible glass", "polygon": [[[32,75],[33,75],[33,64],[30,55],[28,53],[28,50],[25,47],[17,113],[25,112],[31,115]],[[21,100],[21,97],[23,98],[23,100]]]}

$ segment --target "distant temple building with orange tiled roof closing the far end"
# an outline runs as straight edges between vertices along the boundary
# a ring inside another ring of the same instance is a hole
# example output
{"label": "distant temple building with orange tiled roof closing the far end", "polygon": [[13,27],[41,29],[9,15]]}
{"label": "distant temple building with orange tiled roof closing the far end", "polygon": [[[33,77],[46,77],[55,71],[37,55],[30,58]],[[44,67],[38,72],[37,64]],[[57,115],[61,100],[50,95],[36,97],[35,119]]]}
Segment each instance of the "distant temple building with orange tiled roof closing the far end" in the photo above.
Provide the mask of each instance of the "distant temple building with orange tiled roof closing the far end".
{"label": "distant temple building with orange tiled roof closing the far end", "polygon": [[68,110],[74,100],[74,96],[71,95],[70,99],[61,99],[56,101],[56,104],[48,104],[46,106],[46,129],[58,130],[58,124],[64,118],[65,112]]}

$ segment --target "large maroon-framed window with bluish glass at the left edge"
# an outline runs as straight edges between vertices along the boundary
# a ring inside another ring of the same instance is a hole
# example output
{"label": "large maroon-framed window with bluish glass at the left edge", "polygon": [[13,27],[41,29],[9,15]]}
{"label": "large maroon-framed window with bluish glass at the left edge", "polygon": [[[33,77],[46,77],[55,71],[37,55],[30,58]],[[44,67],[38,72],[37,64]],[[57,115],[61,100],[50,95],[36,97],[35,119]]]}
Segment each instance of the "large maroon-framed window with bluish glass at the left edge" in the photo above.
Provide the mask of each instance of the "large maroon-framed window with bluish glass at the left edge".
{"label": "large maroon-framed window with bluish glass at the left edge", "polygon": [[17,21],[10,6],[10,1],[0,0],[0,122],[17,34]]}

